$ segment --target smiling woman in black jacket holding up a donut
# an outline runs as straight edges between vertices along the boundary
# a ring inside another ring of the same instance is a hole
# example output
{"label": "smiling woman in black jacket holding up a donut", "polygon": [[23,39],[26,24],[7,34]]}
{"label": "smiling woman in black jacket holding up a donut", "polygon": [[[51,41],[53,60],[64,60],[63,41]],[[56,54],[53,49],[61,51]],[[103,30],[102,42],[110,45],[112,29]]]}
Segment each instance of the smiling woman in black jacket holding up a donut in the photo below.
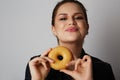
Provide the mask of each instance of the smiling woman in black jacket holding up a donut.
{"label": "smiling woman in black jacket holding up a donut", "polygon": [[66,69],[51,69],[49,64],[54,61],[47,56],[49,49],[29,61],[25,80],[115,80],[108,63],[84,52],[82,47],[88,29],[86,9],[82,3],[76,0],[59,2],[52,14],[52,32],[58,45],[72,51],[73,59],[66,64]]}

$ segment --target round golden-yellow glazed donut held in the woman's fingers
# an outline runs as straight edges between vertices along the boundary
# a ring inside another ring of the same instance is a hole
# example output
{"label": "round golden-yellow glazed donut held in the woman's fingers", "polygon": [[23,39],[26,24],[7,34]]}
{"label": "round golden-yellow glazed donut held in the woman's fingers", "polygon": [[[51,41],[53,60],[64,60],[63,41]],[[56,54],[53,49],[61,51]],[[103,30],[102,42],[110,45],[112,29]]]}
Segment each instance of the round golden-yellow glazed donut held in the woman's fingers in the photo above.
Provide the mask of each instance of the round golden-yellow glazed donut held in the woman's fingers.
{"label": "round golden-yellow glazed donut held in the woman's fingers", "polygon": [[54,63],[50,63],[51,68],[60,70],[66,68],[66,64],[72,59],[72,54],[66,47],[57,46],[50,51],[48,57],[55,61]]}

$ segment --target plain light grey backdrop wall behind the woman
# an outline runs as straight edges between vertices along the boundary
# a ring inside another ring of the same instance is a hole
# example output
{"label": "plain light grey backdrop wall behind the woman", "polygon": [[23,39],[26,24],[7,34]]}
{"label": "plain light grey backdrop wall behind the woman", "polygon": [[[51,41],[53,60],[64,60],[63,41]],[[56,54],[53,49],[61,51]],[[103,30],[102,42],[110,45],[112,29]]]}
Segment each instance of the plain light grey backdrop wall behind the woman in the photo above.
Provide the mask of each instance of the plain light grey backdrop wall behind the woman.
{"label": "plain light grey backdrop wall behind the woman", "polygon": [[[30,57],[57,45],[51,13],[59,0],[0,0],[0,80],[24,80]],[[84,49],[111,64],[120,80],[120,0],[81,0],[89,34]]]}

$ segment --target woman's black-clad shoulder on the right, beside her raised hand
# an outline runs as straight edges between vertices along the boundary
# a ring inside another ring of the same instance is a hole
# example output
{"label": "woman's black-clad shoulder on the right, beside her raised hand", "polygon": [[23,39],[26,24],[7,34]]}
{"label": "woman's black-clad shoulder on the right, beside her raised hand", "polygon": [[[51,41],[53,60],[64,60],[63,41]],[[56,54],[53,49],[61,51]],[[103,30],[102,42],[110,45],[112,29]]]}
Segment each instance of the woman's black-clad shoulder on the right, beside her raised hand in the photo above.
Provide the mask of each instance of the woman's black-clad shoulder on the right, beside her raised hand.
{"label": "woman's black-clad shoulder on the right, beside her raised hand", "polygon": [[93,77],[95,80],[115,80],[112,67],[108,62],[92,57],[92,63]]}

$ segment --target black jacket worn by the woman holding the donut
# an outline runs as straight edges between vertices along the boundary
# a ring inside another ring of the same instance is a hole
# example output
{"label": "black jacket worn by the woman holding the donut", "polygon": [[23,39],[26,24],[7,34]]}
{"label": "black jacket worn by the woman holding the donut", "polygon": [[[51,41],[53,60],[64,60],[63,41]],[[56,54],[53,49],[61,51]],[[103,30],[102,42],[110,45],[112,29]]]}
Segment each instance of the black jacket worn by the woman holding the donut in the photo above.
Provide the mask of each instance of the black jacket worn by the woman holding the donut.
{"label": "black jacket worn by the woman holding the donut", "polygon": [[[82,50],[81,58],[84,55],[86,55],[86,53],[84,52],[84,50]],[[31,59],[35,57],[37,56],[34,56]],[[98,58],[92,57],[92,65],[93,65],[93,80],[115,80],[110,64],[103,62]],[[31,80],[31,74],[28,65],[26,67],[25,80]],[[71,76],[63,72],[51,69],[46,80],[73,80],[73,79]]]}

